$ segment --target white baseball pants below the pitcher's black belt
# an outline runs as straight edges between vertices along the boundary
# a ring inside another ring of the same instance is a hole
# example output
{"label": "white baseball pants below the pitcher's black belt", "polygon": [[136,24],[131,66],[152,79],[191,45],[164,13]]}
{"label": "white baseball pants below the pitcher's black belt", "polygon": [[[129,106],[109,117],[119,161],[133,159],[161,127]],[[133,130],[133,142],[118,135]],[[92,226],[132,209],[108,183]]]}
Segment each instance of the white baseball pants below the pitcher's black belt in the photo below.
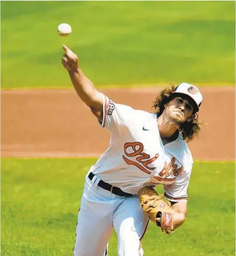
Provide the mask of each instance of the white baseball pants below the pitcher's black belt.
{"label": "white baseball pants below the pitcher's black belt", "polygon": [[112,230],[118,236],[118,256],[142,256],[141,238],[148,218],[138,196],[120,197],[98,187],[99,178],[87,176],[78,211],[74,256],[104,256]]}

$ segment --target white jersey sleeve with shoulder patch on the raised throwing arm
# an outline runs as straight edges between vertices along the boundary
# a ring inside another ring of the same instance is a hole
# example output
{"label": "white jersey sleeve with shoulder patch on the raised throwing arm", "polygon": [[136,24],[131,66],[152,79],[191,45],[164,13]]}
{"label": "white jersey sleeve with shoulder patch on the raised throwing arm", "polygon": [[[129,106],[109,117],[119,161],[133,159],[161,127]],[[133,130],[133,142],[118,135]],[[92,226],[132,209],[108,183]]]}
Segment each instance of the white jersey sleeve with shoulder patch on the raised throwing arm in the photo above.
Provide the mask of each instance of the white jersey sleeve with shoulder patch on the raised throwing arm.
{"label": "white jersey sleeve with shoulder patch on the raised throwing arm", "polygon": [[101,127],[109,130],[112,136],[119,136],[129,129],[136,112],[132,107],[114,103],[104,95]]}

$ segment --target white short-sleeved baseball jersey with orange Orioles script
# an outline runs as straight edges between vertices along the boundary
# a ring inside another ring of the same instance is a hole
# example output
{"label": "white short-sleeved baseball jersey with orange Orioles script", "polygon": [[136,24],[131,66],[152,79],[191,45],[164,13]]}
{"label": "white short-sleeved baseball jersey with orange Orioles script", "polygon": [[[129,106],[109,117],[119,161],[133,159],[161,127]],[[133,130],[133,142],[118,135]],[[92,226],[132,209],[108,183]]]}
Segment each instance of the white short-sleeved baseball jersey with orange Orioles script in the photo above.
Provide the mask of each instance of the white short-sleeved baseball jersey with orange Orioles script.
{"label": "white short-sleeved baseball jersey with orange Orioles script", "polygon": [[126,193],[137,194],[143,186],[163,184],[170,201],[187,200],[193,158],[180,135],[163,145],[156,114],[104,96],[101,126],[111,134],[110,146],[89,172]]}

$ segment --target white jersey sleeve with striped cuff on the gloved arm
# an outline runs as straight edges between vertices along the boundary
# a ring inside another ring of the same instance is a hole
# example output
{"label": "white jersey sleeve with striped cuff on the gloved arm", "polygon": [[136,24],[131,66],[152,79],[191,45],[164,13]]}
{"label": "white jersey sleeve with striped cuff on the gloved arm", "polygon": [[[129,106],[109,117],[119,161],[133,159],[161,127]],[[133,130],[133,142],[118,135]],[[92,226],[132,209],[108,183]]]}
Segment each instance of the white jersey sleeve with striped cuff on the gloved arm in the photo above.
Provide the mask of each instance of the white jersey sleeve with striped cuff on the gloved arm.
{"label": "white jersey sleeve with striped cuff on the gloved arm", "polygon": [[191,167],[182,177],[176,178],[175,182],[164,186],[164,196],[172,202],[187,201],[187,189],[191,175]]}

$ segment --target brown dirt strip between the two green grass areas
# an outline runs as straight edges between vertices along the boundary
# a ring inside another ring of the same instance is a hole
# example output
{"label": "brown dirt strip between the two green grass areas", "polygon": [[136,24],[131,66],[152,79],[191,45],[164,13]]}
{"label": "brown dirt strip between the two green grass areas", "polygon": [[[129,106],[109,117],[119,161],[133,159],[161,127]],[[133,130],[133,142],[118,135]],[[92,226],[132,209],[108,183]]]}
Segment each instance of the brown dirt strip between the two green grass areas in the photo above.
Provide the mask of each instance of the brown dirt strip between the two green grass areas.
{"label": "brown dirt strip between the two green grass areas", "polygon": [[[102,89],[114,102],[151,112],[160,88]],[[189,143],[196,160],[235,160],[235,88],[201,87],[199,119],[207,123]],[[2,90],[2,157],[95,156],[107,149],[100,128],[74,89]]]}

